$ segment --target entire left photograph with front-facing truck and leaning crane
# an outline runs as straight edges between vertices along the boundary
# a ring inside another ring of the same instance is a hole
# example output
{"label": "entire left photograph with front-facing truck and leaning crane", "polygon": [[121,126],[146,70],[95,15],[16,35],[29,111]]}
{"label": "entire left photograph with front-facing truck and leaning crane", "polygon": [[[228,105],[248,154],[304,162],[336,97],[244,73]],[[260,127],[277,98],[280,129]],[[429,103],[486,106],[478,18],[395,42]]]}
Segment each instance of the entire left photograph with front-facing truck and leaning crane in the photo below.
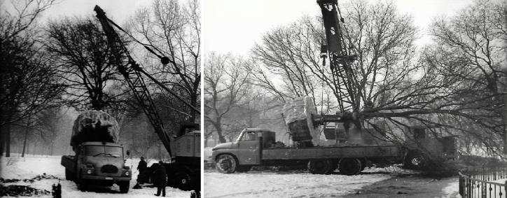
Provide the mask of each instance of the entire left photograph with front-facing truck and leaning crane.
{"label": "entire left photograph with front-facing truck and leaning crane", "polygon": [[0,197],[200,197],[200,6],[0,3]]}

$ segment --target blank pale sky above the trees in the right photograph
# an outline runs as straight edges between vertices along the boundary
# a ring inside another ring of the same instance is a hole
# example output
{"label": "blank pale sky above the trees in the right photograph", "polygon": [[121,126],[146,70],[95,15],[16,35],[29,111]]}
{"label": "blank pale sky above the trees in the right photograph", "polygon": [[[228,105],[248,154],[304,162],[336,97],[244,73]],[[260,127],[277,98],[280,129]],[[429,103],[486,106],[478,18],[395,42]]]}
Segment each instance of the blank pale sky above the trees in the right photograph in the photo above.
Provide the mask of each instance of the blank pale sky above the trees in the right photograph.
{"label": "blank pale sky above the trees in the right photograph", "polygon": [[[346,1],[338,0],[339,4],[342,2]],[[473,0],[394,0],[394,3],[401,13],[412,14],[418,27],[426,28],[433,17],[454,15]],[[316,0],[204,0],[204,51],[246,55],[261,34],[305,14],[321,15]]]}

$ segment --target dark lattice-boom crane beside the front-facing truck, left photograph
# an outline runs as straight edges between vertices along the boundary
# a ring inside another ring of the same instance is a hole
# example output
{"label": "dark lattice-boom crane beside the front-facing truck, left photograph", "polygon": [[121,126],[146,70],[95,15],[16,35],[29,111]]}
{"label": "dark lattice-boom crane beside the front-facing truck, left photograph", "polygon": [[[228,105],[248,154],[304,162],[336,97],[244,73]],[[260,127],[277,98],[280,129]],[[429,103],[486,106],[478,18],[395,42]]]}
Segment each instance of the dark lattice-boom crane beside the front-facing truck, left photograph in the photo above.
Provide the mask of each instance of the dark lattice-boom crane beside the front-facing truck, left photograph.
{"label": "dark lattice-boom crane beside the front-facing truck, left photograph", "polygon": [[[144,113],[146,113],[146,116],[150,120],[151,125],[153,125],[155,133],[158,134],[160,141],[162,141],[162,144],[171,156],[172,162],[164,164],[167,170],[167,184],[174,185],[176,188],[180,188],[182,190],[196,190],[196,192],[199,192],[201,162],[201,133],[199,125],[195,123],[181,123],[181,129],[179,132],[172,132],[174,130],[167,131],[163,125],[160,115],[157,112],[157,109],[155,108],[155,104],[151,99],[150,92],[148,92],[148,88],[144,83],[141,73],[182,101],[186,104],[186,106],[190,107],[192,111],[200,113],[199,109],[188,104],[188,102],[179,97],[178,94],[172,92],[172,90],[160,83],[160,81],[146,73],[146,71],[144,71],[144,69],[142,69],[132,58],[129,50],[127,50],[113,26],[122,31],[123,29],[121,29],[112,20],[109,20],[109,18],[106,17],[104,10],[102,10],[99,6],[95,6],[94,10],[97,13],[97,18],[102,24],[102,29],[104,29],[104,33],[107,36],[109,48],[111,48],[111,63],[116,64],[118,67],[118,71],[120,71],[127,81],[127,84],[134,93],[134,96],[137,101],[139,101],[141,108],[143,108]],[[146,45],[144,45],[144,47],[150,52],[153,52],[153,50],[148,48]],[[174,61],[160,55],[158,55],[158,57],[160,57],[162,64],[168,64],[169,62]],[[153,166],[148,168],[148,172],[142,174],[140,173],[139,177],[144,178],[145,181],[149,181],[150,175],[153,173],[153,169],[155,168],[156,167]]]}

